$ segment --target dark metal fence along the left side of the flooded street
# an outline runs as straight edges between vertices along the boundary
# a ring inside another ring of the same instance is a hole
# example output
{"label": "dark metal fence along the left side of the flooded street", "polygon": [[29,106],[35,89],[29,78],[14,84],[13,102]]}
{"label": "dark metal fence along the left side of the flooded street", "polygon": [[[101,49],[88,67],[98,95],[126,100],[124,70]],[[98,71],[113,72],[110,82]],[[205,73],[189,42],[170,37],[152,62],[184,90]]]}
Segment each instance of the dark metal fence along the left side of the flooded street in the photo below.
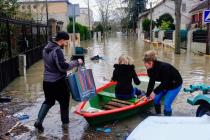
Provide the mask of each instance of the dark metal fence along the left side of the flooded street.
{"label": "dark metal fence along the left side of the flooded street", "polygon": [[42,58],[47,31],[44,24],[0,15],[0,91],[19,76],[19,54],[26,54],[27,68]]}

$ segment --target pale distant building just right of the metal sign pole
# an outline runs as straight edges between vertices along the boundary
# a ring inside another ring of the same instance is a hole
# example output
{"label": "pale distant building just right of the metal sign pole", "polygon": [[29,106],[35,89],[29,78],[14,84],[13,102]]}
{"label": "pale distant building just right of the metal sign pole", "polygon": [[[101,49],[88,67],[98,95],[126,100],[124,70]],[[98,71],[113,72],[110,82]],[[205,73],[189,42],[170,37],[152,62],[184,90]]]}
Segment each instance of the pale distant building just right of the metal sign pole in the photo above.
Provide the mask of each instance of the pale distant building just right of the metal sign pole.
{"label": "pale distant building just right of the metal sign pole", "polygon": [[80,8],[80,16],[76,17],[76,22],[86,27],[89,27],[89,22],[90,22],[90,30],[92,30],[94,22],[93,11],[89,9],[89,15],[88,15],[88,8]]}

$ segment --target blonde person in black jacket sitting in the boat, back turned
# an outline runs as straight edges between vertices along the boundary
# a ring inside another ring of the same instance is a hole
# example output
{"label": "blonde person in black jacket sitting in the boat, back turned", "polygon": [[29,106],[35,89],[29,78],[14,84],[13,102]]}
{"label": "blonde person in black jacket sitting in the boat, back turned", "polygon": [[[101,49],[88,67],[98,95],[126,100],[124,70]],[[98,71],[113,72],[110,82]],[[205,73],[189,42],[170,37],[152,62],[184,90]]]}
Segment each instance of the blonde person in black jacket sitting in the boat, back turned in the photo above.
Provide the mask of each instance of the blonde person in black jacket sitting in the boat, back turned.
{"label": "blonde person in black jacket sitting in the boat, back turned", "polygon": [[135,66],[132,64],[133,59],[126,55],[121,55],[118,64],[114,65],[112,81],[116,81],[115,87],[116,98],[128,100],[134,97],[141,97],[141,91],[133,88],[132,79],[136,85],[140,84],[140,80],[136,74]]}

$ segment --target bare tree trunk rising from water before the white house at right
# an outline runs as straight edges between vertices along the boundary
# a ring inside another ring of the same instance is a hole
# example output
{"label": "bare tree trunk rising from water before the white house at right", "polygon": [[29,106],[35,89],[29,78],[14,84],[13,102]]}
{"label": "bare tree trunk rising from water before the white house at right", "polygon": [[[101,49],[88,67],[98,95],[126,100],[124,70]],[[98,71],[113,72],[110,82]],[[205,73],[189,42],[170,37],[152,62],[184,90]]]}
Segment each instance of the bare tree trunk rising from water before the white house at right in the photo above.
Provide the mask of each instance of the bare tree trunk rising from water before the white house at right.
{"label": "bare tree trunk rising from water before the white house at right", "polygon": [[175,16],[176,16],[176,32],[175,32],[175,53],[180,54],[181,48],[181,36],[180,36],[180,25],[181,25],[181,4],[182,0],[175,0]]}

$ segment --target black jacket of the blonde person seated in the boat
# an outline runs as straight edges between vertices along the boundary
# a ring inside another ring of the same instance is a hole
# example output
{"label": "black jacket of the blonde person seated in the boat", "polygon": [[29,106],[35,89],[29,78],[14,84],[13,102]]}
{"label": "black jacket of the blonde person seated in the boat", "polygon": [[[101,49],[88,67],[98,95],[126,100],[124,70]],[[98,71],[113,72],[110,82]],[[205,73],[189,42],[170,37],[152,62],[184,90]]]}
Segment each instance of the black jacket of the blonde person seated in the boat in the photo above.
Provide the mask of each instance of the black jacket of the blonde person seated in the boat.
{"label": "black jacket of the blonde person seated in the boat", "polygon": [[139,85],[140,80],[135,72],[134,65],[115,64],[112,80],[117,82],[115,87],[116,94],[131,94],[133,91],[132,79]]}

